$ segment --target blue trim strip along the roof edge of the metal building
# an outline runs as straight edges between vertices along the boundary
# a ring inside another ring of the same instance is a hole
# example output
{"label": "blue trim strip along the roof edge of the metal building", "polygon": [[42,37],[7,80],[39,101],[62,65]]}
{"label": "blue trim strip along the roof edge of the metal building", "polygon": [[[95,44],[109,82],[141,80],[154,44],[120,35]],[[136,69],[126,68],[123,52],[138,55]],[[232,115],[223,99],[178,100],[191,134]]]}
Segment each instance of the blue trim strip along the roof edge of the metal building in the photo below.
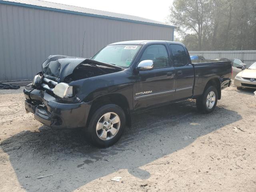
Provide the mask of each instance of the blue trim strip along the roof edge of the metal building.
{"label": "blue trim strip along the roof edge of the metal building", "polygon": [[126,22],[133,22],[133,23],[146,24],[146,25],[154,25],[154,26],[162,26],[162,27],[168,27],[168,28],[177,28],[176,26],[172,26],[172,25],[168,25],[168,24],[165,25],[165,24],[144,22],[144,21],[138,21],[138,20],[123,19],[123,18],[118,18],[118,17],[110,17],[110,16],[104,16],[104,15],[82,13],[82,12],[76,12],[76,11],[70,11],[70,10],[64,10],[64,9],[57,9],[57,8],[50,8],[50,7],[43,7],[43,6],[36,6],[36,5],[17,3],[17,2],[10,2],[10,1],[4,1],[4,0],[0,0],[0,4],[22,6],[22,7],[35,8],[35,9],[40,9],[40,10],[64,12],[64,13],[68,13],[68,14],[83,15],[83,16],[90,16],[90,17],[98,17],[98,18],[104,18],[104,19],[119,20],[119,21],[126,21]]}

